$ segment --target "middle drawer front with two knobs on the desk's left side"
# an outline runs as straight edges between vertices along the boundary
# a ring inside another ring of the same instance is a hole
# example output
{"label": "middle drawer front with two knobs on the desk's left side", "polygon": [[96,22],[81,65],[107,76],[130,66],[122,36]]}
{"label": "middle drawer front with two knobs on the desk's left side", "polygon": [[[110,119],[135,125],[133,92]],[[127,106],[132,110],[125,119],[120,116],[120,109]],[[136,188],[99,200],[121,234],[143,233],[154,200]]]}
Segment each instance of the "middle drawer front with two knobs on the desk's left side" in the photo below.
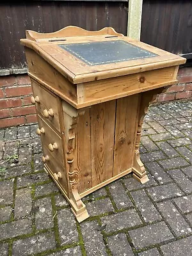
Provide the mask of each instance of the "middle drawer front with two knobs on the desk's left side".
{"label": "middle drawer front with two knobs on the desk's left side", "polygon": [[[63,148],[61,137],[40,117],[38,116],[38,134],[41,136],[43,147],[49,148],[52,156],[63,163]],[[40,131],[40,132],[39,132]]]}

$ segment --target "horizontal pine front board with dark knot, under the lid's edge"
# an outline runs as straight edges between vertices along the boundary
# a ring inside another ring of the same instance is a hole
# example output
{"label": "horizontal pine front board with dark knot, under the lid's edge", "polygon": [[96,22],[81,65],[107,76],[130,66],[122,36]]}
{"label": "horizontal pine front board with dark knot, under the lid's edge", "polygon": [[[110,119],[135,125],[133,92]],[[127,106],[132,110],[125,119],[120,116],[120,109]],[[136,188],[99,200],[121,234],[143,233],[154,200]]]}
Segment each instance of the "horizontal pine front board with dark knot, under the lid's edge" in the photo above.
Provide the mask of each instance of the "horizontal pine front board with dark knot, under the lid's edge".
{"label": "horizontal pine front board with dark knot, under the lid's edge", "polygon": [[[89,106],[171,84],[175,82],[174,75],[175,67],[168,67],[128,76],[104,79],[102,81],[83,83],[84,93],[79,105]],[[141,78],[143,81],[141,81]]]}

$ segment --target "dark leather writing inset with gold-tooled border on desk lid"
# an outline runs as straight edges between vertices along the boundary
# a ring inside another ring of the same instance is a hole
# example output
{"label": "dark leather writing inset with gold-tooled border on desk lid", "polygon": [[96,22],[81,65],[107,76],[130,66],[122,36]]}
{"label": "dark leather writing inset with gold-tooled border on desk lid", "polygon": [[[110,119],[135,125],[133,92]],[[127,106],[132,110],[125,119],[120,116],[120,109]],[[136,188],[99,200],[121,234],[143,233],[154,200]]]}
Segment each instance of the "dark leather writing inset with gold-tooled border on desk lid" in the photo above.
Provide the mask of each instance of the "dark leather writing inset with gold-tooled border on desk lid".
{"label": "dark leather writing inset with gold-tooled border on desk lid", "polygon": [[157,56],[124,40],[60,44],[59,46],[91,66]]}

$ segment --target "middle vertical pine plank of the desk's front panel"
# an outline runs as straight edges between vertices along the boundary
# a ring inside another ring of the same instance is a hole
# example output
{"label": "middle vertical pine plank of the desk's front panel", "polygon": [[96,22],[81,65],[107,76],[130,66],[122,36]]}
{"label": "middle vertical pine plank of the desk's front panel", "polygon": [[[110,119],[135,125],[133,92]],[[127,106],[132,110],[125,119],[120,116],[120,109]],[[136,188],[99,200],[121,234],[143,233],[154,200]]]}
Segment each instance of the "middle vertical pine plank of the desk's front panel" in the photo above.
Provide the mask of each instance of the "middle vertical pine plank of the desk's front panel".
{"label": "middle vertical pine plank of the desk's front panel", "polygon": [[92,186],[113,177],[116,101],[91,108]]}

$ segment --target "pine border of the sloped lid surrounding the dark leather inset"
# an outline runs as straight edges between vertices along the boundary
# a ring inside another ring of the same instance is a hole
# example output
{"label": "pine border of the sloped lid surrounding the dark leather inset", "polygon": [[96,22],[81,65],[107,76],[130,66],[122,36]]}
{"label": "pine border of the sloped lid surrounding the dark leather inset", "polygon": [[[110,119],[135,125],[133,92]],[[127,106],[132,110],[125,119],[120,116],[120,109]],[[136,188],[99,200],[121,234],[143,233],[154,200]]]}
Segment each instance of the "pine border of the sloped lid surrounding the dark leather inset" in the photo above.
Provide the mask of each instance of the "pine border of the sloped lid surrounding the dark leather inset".
{"label": "pine border of the sloped lid surrounding the dark leather inset", "polygon": [[[74,38],[73,38],[74,39]],[[128,60],[120,61],[116,63],[108,63],[104,65],[93,65],[90,66],[84,61],[80,60],[76,56],[70,54],[69,52],[61,49],[56,44],[38,44],[41,51],[47,52],[48,56],[54,60],[54,63],[58,62],[63,65],[63,68],[70,70],[74,77],[71,77],[72,83],[83,83],[87,81],[95,81],[100,79],[106,79],[109,77],[116,77],[120,75],[132,74],[137,72],[143,72],[147,70],[157,69],[159,67],[170,67],[173,65],[178,65],[184,63],[186,60],[170,52],[157,49],[151,45],[144,44],[142,42],[132,41],[127,37],[111,38],[113,40],[124,40],[126,42],[131,42],[131,44],[147,49],[156,53],[158,56],[143,58],[140,60]],[[110,38],[95,38],[95,40],[109,41]],[[72,41],[74,43],[74,41]],[[77,41],[78,42],[78,41]],[[94,42],[93,38],[81,38],[81,42]],[[67,42],[65,44],[69,44]],[[80,42],[79,42],[80,43]],[[40,51],[40,52],[41,52]],[[47,57],[48,57],[47,56]],[[136,70],[136,72],[134,72]]]}

